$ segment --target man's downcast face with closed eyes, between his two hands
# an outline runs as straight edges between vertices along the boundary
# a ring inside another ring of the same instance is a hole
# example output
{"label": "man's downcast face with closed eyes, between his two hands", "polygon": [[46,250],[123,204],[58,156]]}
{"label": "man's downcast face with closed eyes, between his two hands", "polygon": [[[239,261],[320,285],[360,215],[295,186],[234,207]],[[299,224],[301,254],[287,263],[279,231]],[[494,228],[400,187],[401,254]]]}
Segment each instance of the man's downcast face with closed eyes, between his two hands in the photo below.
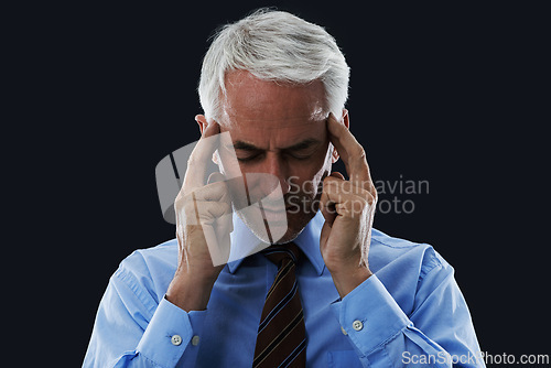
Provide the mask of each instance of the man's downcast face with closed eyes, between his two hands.
{"label": "man's downcast face with closed eyes, between his two hands", "polygon": [[[277,84],[247,72],[231,72],[226,76],[226,88],[227,99],[218,123],[220,132],[229,131],[231,136],[238,166],[235,156],[230,160],[231,150],[225,147],[218,150],[218,165],[228,177],[249,174],[249,203],[264,198],[263,221],[237,213],[257,236],[259,223],[263,226],[269,221],[273,229],[283,219],[287,231],[279,231],[284,236],[273,241],[291,241],[317,212],[321,184],[331,172],[333,147],[326,130],[328,112],[323,85]],[[281,193],[273,192],[277,182]],[[230,192],[235,191],[230,187]],[[270,207],[271,203],[274,205]]]}

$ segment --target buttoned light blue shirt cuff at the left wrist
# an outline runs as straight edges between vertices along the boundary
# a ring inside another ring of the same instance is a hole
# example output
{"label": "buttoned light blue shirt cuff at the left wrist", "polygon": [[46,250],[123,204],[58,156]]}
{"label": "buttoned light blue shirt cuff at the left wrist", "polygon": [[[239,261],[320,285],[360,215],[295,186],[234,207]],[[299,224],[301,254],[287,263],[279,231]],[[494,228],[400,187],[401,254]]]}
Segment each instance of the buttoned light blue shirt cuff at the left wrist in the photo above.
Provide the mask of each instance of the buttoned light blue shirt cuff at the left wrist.
{"label": "buttoned light blue shirt cuff at the left wrist", "polygon": [[163,297],[136,350],[156,365],[174,367],[205,315],[206,311],[187,313]]}

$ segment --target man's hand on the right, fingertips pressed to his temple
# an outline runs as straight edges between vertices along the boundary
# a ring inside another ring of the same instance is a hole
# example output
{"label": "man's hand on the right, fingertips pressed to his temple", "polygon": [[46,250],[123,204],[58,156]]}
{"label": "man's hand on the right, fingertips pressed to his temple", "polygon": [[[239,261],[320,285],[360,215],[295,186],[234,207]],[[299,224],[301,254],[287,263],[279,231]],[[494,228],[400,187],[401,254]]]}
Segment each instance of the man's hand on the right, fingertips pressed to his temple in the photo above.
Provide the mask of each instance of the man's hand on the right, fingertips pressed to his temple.
{"label": "man's hand on the right, fingertips pressed to his temple", "polygon": [[334,172],[325,177],[320,209],[325,218],[320,249],[333,282],[344,297],[371,272],[367,262],[377,191],[361,144],[333,115],[327,120],[329,141],[346,166],[349,181]]}

